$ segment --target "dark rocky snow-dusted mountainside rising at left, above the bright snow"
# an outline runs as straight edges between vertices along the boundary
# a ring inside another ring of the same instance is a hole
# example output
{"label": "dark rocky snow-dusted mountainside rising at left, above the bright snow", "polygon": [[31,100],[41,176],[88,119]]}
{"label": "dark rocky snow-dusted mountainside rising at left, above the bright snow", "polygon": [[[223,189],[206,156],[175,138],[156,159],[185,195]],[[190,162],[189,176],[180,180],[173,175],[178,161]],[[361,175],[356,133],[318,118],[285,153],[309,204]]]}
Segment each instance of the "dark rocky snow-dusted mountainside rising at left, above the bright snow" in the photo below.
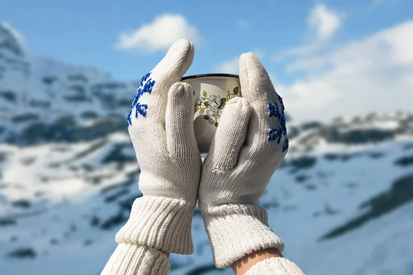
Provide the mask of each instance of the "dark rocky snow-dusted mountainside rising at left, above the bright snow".
{"label": "dark rocky snow-dusted mountainside rising at left, above the bright snow", "polygon": [[0,141],[82,141],[125,129],[136,86],[94,68],[30,56],[0,25]]}

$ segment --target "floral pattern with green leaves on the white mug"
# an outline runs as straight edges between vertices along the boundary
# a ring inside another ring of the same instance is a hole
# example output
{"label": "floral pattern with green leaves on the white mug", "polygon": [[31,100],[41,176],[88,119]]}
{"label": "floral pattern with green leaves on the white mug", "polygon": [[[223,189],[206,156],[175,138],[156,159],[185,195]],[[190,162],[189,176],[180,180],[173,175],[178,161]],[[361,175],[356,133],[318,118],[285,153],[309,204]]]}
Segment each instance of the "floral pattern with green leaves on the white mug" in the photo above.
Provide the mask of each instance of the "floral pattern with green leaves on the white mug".
{"label": "floral pattern with green leaves on the white mug", "polygon": [[[221,98],[220,95],[215,94],[208,96],[207,91],[202,91],[202,96],[195,100],[193,104],[193,113],[199,112],[199,115],[204,115],[204,120],[208,120],[209,123],[218,127],[226,102],[231,98],[235,98],[235,96],[239,96],[239,92],[240,88],[235,87],[232,93],[226,91],[226,96]],[[193,96],[195,96],[195,91],[193,91]]]}

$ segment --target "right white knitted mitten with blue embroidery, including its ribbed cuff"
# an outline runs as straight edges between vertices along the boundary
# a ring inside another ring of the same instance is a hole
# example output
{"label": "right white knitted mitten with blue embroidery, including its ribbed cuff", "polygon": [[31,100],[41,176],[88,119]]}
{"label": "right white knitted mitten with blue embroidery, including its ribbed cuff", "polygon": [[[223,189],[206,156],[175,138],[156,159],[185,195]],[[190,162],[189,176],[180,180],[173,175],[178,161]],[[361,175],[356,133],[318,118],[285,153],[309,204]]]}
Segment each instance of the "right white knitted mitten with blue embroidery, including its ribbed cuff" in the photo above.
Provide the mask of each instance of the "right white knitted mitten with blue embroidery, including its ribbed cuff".
{"label": "right white knitted mitten with blue embroidery, including its ribbed cuff", "polygon": [[202,166],[198,192],[218,268],[253,251],[284,250],[282,240],[268,227],[266,210],[258,206],[288,150],[284,105],[252,53],[240,57],[240,83],[242,98],[226,104]]}

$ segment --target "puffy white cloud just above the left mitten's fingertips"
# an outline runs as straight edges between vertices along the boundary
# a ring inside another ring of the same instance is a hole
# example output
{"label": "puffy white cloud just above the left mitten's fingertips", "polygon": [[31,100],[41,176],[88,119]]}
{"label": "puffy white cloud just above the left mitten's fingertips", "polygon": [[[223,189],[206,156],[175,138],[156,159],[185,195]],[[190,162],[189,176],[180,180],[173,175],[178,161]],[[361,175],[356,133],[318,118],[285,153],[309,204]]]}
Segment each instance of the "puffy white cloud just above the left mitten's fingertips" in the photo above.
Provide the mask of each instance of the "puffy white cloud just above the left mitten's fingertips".
{"label": "puffy white cloud just above the left mitten's fingertips", "polygon": [[116,47],[120,50],[145,50],[155,52],[168,49],[173,42],[185,38],[196,43],[198,30],[181,14],[162,14],[138,30],[119,34]]}

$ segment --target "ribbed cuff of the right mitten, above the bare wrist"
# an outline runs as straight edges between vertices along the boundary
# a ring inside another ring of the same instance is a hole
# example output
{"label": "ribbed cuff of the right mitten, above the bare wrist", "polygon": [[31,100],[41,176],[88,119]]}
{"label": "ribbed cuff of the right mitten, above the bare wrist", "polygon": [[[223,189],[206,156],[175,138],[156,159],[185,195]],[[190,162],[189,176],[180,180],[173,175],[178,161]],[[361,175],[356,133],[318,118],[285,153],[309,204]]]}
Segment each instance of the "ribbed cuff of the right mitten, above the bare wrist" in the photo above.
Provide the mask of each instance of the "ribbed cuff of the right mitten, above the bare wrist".
{"label": "ribbed cuff of the right mitten, above the bare wrist", "polygon": [[268,227],[267,212],[260,206],[218,206],[202,212],[202,217],[218,268],[229,267],[254,251],[284,250],[283,241]]}

